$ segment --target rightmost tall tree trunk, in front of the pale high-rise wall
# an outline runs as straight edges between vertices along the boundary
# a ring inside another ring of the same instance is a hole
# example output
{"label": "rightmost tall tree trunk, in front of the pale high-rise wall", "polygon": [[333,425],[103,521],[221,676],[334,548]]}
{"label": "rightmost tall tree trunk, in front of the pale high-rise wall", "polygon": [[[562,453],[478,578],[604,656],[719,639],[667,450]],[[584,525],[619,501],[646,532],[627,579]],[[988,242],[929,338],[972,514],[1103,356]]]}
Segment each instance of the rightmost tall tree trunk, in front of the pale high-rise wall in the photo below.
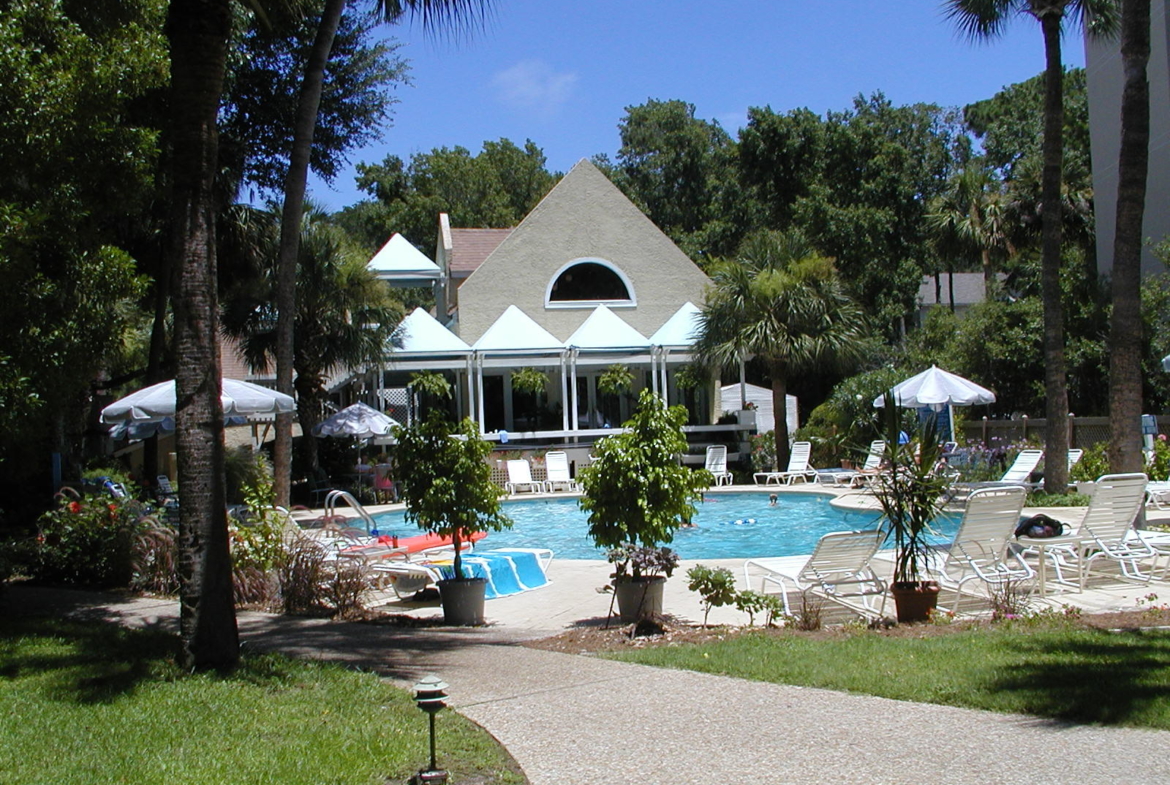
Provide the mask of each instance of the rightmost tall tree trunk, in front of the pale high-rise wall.
{"label": "rightmost tall tree trunk, in front of the pale high-rise wall", "polygon": [[1121,4],[1121,156],[1109,331],[1109,468],[1142,471],[1142,219],[1150,145],[1150,0]]}

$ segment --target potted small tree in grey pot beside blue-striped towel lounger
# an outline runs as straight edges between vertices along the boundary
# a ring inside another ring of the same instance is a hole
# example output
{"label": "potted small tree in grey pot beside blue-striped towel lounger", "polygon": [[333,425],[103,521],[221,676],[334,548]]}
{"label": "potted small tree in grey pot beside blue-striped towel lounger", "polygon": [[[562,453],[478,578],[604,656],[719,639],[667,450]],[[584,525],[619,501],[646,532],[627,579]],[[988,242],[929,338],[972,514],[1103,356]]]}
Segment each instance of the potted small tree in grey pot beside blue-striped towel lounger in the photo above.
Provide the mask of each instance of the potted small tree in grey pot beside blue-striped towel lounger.
{"label": "potted small tree in grey pot beside blue-striped towel lounger", "polygon": [[455,425],[439,412],[424,422],[395,428],[394,438],[406,519],[449,537],[455,548],[454,577],[439,581],[443,619],[452,625],[481,625],[487,579],[463,574],[461,545],[477,532],[511,526],[501,511],[501,489],[491,482],[486,460],[491,445],[470,419]]}

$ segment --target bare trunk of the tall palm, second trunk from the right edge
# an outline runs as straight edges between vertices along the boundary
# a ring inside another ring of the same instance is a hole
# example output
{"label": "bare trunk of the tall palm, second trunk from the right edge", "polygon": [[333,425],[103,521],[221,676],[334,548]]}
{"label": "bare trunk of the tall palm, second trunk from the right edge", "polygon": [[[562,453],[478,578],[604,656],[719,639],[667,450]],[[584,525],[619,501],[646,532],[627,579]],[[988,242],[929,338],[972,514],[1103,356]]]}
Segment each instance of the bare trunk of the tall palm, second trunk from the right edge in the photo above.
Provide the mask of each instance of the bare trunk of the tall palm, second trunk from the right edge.
{"label": "bare trunk of the tall palm, second trunk from the right edge", "polygon": [[1044,30],[1044,173],[1040,184],[1040,296],[1044,301],[1045,416],[1044,488],[1068,489],[1068,379],[1065,371],[1065,312],[1060,299],[1060,180],[1064,160],[1065,70],[1060,62],[1061,11],[1040,19]]}

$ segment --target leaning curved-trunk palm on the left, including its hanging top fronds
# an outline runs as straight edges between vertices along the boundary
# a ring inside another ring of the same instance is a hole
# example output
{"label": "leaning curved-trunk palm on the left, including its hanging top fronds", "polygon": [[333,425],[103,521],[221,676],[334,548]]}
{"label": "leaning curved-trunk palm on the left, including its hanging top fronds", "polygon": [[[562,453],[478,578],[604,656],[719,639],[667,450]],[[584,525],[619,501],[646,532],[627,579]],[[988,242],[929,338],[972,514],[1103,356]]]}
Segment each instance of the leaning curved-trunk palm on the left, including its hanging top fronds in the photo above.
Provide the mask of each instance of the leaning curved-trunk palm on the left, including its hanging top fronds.
{"label": "leaning curved-trunk palm on the left, including its hanging top fronds", "polygon": [[[386,22],[394,22],[410,11],[421,18],[425,28],[435,25],[462,27],[479,19],[490,0],[376,0],[374,13]],[[324,87],[325,63],[333,49],[333,39],[342,21],[346,0],[325,0],[317,22],[317,34],[297,99],[292,126],[292,149],[289,170],[284,178],[284,205],[281,214],[281,248],[276,288],[277,343],[276,388],[292,393],[294,321],[296,307],[297,245],[301,237],[301,218],[304,212],[304,191],[309,175],[309,157],[317,129],[317,112]],[[287,504],[291,481],[292,424],[287,415],[276,418],[276,442],[273,452],[273,473],[277,503]]]}

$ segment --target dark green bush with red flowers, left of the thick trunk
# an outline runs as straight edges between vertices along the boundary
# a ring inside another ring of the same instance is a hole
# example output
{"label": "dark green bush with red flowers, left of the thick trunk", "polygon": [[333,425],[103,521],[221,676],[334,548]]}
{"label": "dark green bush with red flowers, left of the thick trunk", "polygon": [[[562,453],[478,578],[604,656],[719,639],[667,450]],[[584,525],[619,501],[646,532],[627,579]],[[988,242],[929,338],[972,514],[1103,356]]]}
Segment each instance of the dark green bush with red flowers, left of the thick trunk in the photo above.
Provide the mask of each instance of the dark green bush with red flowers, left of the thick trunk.
{"label": "dark green bush with red flowers, left of the thick trunk", "polygon": [[37,519],[28,549],[28,572],[37,579],[82,586],[126,586],[142,505],[109,496],[63,498]]}

